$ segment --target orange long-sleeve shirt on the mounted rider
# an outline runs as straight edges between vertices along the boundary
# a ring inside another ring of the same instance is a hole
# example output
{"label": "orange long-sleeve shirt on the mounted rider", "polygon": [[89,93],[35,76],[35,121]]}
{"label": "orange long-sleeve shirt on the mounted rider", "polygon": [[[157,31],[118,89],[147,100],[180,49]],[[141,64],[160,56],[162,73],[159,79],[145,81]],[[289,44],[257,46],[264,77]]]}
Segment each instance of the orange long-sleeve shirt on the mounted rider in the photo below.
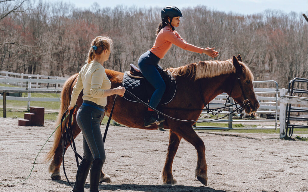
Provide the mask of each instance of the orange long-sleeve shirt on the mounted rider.
{"label": "orange long-sleeve shirt on the mounted rider", "polygon": [[177,31],[172,31],[171,27],[169,26],[165,26],[160,30],[152,49],[149,51],[162,59],[171,48],[172,44],[188,51],[193,51],[196,53],[203,52],[202,48],[187,43]]}

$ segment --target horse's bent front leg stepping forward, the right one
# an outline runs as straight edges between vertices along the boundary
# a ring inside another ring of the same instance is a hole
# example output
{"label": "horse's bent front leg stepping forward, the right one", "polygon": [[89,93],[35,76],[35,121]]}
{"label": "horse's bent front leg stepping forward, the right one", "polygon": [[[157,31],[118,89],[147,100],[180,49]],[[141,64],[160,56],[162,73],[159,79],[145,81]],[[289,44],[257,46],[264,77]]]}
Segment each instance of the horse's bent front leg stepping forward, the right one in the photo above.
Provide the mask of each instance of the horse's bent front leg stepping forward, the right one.
{"label": "horse's bent front leg stepping forward, the right one", "polygon": [[191,143],[197,149],[197,167],[195,170],[195,177],[203,185],[208,183],[208,175],[206,173],[208,166],[205,161],[205,145],[202,139],[193,130],[191,125],[180,125],[179,128],[173,129],[173,131],[179,136],[183,137],[186,141]]}

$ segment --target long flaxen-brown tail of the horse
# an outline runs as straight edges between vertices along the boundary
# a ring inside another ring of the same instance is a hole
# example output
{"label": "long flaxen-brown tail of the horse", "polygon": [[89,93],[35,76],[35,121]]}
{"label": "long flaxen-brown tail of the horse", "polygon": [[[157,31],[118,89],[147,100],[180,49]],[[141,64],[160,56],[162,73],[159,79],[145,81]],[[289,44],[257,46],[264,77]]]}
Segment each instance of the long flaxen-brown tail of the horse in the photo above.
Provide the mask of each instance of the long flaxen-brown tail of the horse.
{"label": "long flaxen-brown tail of the horse", "polygon": [[[63,89],[61,92],[61,104],[60,104],[60,110],[59,110],[59,114],[57,116],[57,120],[56,120],[56,127],[58,127],[61,123],[61,118],[63,113],[67,110],[68,106],[70,105],[71,102],[71,86],[74,83],[76,77],[78,76],[78,73],[72,75],[70,78],[68,78],[67,81],[65,81],[65,83],[63,84]],[[67,118],[68,121],[68,118]],[[67,122],[66,122],[67,123]],[[62,133],[65,132],[65,127],[64,125],[62,125],[61,128],[58,128],[55,131],[55,140],[54,143],[50,149],[50,151],[48,151],[48,153],[45,155],[45,161],[50,161],[51,158],[55,155],[55,151],[56,149],[59,147],[61,141],[61,136]]]}

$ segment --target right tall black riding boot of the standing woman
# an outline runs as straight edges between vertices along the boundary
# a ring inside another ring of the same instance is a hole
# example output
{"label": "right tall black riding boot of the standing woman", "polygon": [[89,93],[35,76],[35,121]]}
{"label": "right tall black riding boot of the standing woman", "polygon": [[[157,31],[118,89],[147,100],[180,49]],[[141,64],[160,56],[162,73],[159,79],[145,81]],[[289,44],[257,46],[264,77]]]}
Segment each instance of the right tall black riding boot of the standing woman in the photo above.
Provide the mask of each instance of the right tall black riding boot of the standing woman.
{"label": "right tall black riding boot of the standing woman", "polygon": [[103,168],[101,159],[95,159],[90,170],[90,192],[98,192],[100,173]]}

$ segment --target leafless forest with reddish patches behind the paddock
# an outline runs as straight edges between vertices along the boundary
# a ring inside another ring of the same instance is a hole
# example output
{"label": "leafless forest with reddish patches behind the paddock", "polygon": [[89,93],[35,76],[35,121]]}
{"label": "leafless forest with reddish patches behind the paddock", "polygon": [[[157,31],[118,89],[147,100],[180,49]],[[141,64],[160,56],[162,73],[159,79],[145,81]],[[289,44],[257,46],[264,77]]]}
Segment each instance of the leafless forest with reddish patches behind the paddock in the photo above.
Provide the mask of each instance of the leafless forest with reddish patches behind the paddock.
{"label": "leafless forest with reddish patches behind the paddock", "polygon": [[[63,2],[0,0],[0,70],[68,77],[85,64],[91,40],[106,35],[113,49],[104,66],[124,72],[154,44],[160,9],[103,3],[80,9]],[[279,88],[294,77],[307,78],[307,21],[302,13],[241,15],[206,6],[181,11],[184,17],[176,31],[190,44],[215,47],[217,60],[241,54],[255,80],[276,80]],[[160,66],[206,60],[212,58],[172,45]]]}

